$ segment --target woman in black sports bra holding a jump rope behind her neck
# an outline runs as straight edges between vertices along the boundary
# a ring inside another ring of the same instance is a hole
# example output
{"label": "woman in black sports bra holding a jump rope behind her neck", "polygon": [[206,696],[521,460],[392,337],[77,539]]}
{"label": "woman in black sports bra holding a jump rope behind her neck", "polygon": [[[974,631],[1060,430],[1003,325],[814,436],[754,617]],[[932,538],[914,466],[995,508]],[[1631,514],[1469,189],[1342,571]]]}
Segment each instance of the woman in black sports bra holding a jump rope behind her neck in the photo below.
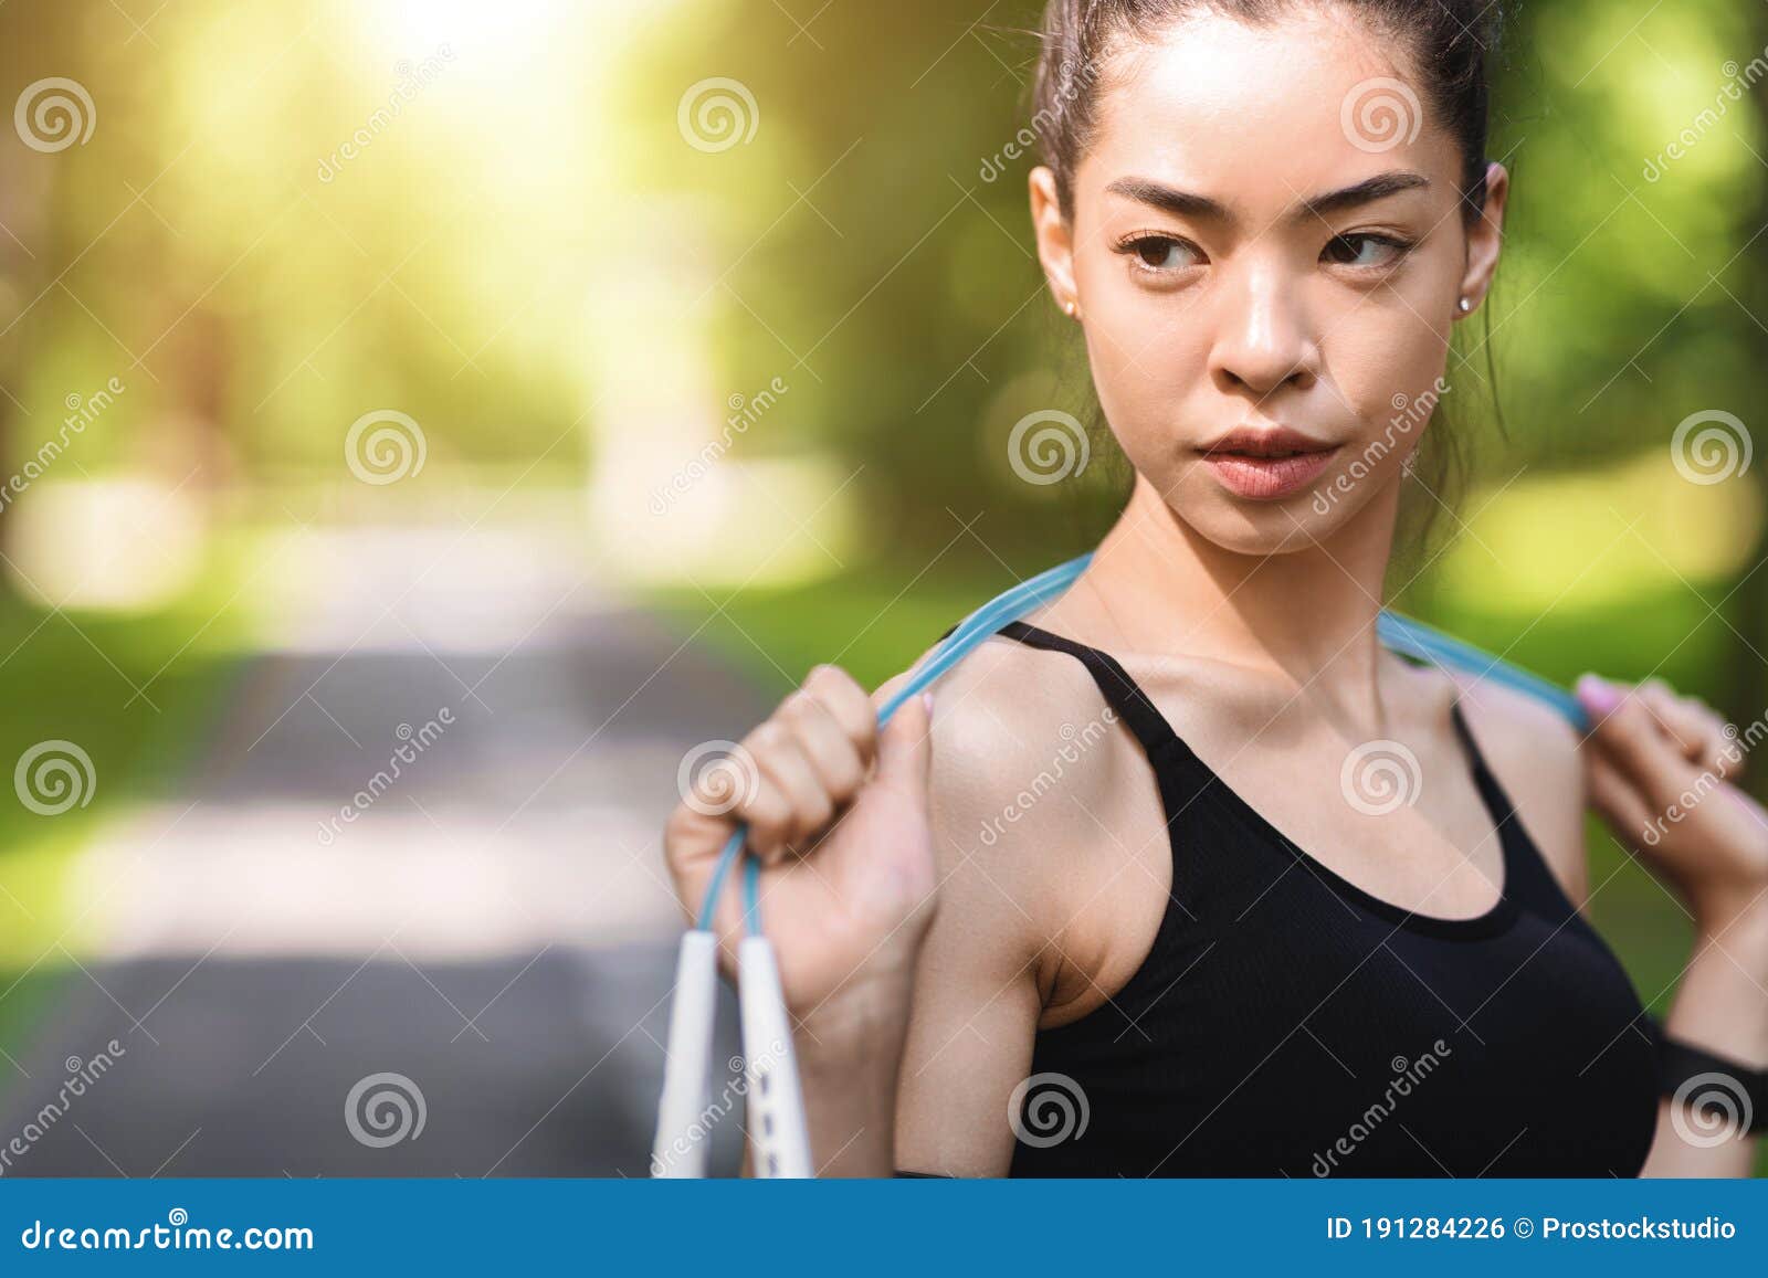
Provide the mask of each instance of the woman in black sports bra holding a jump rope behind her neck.
{"label": "woman in black sports bra holding a jump rope behind her neck", "polygon": [[817,668],[751,792],[667,831],[691,907],[750,822],[824,1174],[1747,1174],[1581,912],[1589,803],[1697,928],[1667,1032],[1768,1062],[1768,817],[1718,718],[1586,677],[1581,739],[1376,636],[1395,405],[1453,387],[1499,258],[1490,14],[1048,5],[1033,224],[1133,493],[937,714],[877,734]]}

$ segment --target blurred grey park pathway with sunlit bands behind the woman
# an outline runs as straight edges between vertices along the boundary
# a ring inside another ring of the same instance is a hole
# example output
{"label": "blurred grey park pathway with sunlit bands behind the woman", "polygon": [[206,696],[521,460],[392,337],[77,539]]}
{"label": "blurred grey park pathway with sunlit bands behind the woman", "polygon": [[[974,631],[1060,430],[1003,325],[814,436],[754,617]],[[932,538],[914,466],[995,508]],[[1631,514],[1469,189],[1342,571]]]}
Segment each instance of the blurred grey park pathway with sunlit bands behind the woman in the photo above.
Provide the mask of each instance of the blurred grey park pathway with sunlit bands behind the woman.
{"label": "blurred grey park pathway with sunlit bands behind the woman", "polygon": [[[286,649],[187,792],[78,864],[72,974],[0,1089],[0,1145],[30,1145],[5,1174],[645,1174],[679,930],[661,822],[682,755],[767,702],[559,541],[290,536]],[[410,1085],[347,1117],[373,1075]]]}

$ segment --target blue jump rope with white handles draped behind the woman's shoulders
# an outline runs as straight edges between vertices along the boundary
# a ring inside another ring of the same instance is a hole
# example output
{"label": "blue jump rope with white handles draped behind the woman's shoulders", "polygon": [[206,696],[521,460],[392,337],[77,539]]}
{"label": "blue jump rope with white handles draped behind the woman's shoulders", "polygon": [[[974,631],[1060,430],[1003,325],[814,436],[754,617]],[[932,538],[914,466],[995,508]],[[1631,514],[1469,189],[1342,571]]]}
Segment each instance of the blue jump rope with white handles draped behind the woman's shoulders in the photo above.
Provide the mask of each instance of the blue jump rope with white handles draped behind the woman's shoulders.
{"label": "blue jump rope with white handles draped behind the woman's shoulders", "polygon": [[[997,629],[1066,590],[1091,562],[1093,555],[1080,555],[1066,564],[1057,564],[995,596],[965,617],[879,709],[879,726],[889,723],[891,716],[911,696],[919,696]],[[1515,688],[1556,709],[1579,732],[1589,730],[1589,718],[1568,691],[1490,652],[1388,610],[1377,617],[1376,633],[1393,652],[1466,670]],[[743,856],[746,838],[748,822],[739,822],[713,868],[713,879],[700,903],[700,917],[681,940],[663,1094],[658,1101],[658,1128],[651,1154],[654,1175],[705,1175],[705,1131],[711,1122],[707,1115],[713,1112],[705,1098],[713,1069],[713,1016],[718,988],[718,937],[713,932],[713,917],[725,880],[730,877],[730,866]],[[748,1103],[746,1128],[757,1175],[806,1177],[815,1175],[815,1165],[792,1050],[792,1018],[785,1008],[778,962],[760,930],[758,886],[760,861],[748,857],[743,868],[746,935],[739,942],[737,958]]]}

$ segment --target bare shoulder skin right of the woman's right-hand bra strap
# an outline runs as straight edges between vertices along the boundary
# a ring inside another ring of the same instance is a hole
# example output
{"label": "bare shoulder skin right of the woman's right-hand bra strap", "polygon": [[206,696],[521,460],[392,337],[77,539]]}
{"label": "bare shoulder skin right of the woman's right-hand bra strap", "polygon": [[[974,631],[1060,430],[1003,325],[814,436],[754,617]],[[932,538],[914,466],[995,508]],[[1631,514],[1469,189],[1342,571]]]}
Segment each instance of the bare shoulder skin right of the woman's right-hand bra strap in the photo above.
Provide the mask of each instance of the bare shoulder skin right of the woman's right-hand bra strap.
{"label": "bare shoulder skin right of the woman's right-hand bra strap", "polygon": [[1589,884],[1584,848],[1581,737],[1559,712],[1490,679],[1455,673],[1462,711],[1485,762],[1517,806],[1566,896],[1582,909]]}

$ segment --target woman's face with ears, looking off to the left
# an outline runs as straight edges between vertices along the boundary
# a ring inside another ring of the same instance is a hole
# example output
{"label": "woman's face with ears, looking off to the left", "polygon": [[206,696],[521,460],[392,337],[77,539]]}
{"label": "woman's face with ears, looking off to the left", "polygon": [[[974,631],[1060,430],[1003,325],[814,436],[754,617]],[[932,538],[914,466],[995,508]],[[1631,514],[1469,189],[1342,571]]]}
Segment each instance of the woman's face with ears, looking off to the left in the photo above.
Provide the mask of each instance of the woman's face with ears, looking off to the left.
{"label": "woman's face with ears, looking off to the left", "polygon": [[1437,378],[1455,387],[1450,329],[1485,293],[1506,179],[1490,168],[1469,232],[1427,99],[1344,9],[1200,12],[1105,67],[1071,224],[1033,175],[1040,253],[1078,306],[1112,431],[1223,548],[1326,541],[1391,497]]}

